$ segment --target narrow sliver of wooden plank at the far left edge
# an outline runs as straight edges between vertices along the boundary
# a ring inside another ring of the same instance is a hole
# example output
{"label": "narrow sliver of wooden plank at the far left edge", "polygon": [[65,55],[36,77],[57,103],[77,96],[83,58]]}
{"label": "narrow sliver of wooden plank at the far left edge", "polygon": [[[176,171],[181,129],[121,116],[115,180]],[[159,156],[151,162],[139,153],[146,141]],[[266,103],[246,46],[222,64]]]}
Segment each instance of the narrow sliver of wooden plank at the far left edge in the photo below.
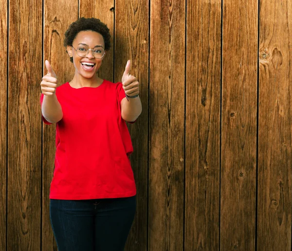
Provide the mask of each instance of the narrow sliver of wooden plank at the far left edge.
{"label": "narrow sliver of wooden plank at the far left edge", "polygon": [[0,2],[0,247],[6,250],[7,0]]}

